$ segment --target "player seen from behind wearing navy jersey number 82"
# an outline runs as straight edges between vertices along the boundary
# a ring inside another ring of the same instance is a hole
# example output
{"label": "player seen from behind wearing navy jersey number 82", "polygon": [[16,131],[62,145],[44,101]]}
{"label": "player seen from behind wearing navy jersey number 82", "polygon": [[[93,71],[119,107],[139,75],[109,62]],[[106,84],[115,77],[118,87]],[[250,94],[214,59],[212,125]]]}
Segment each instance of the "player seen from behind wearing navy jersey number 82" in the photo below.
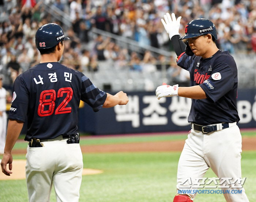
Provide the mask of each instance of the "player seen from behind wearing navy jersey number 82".
{"label": "player seen from behind wearing navy jersey number 82", "polygon": [[59,64],[63,54],[62,28],[41,26],[35,35],[40,64],[22,73],[14,82],[7,138],[1,168],[12,174],[11,150],[27,118],[26,182],[30,202],[50,201],[54,184],[57,202],[78,202],[83,158],[79,146],[78,108],[80,100],[93,110],[128,103],[120,91],[107,94],[81,72]]}

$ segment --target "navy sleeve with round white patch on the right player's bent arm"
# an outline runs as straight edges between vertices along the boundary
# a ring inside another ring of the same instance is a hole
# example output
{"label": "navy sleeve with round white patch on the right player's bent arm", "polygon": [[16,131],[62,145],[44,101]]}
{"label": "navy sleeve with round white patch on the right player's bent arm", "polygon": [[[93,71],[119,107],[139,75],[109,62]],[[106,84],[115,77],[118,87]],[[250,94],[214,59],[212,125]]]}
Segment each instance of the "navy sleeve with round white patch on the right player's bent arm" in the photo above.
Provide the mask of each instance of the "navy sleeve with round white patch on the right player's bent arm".
{"label": "navy sleeve with round white patch on the right player's bent arm", "polygon": [[222,96],[234,87],[234,75],[229,64],[216,62],[209,79],[200,84],[200,87],[206,93],[207,98],[217,102]]}

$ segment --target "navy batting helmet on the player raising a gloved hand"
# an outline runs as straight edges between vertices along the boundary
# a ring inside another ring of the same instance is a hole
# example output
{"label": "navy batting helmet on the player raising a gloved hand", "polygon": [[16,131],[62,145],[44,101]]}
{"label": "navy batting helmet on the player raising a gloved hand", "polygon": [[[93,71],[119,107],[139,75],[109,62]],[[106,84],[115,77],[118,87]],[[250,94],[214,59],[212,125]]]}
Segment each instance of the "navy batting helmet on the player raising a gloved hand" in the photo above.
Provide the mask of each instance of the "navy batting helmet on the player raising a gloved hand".
{"label": "navy batting helmet on the player raising a gloved hand", "polygon": [[211,34],[217,40],[217,31],[215,25],[207,19],[192,20],[185,27],[185,35],[180,39],[189,39],[204,34]]}

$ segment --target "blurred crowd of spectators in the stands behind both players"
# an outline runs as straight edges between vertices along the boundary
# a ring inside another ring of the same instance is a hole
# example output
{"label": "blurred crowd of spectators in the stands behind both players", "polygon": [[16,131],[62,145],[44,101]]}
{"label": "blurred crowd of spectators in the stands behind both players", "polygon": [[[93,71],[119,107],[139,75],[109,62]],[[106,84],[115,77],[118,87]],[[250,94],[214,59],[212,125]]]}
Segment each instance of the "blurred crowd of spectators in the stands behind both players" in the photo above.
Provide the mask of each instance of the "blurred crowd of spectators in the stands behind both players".
{"label": "blurred crowd of spectators in the stands behind both players", "polygon": [[43,24],[63,25],[46,12],[45,4],[69,15],[72,26],[64,30],[61,63],[82,72],[96,72],[99,62],[111,60],[114,68],[153,72],[167,69],[170,80],[187,81],[187,72],[177,67],[174,57],[143,55],[120,47],[114,40],[94,38],[92,27],[138,42],[172,50],[161,23],[166,12],[182,16],[180,34],[196,18],[210,19],[217,27],[217,46],[237,52],[256,52],[256,0],[0,0],[0,72],[4,86],[11,89],[16,77],[39,63],[34,37]]}

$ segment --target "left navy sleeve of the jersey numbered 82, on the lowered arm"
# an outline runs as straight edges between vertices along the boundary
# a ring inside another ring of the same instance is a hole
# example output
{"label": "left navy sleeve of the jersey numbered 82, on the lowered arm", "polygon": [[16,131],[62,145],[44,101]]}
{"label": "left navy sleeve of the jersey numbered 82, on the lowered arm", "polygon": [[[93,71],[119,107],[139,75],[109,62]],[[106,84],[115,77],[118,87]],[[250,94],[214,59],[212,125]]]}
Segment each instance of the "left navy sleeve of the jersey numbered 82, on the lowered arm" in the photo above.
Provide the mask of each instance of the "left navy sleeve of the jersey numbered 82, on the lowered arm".
{"label": "left navy sleeve of the jersey numbered 82, on the lowered arm", "polygon": [[29,107],[29,92],[22,78],[16,78],[13,91],[12,105],[8,118],[25,122]]}

